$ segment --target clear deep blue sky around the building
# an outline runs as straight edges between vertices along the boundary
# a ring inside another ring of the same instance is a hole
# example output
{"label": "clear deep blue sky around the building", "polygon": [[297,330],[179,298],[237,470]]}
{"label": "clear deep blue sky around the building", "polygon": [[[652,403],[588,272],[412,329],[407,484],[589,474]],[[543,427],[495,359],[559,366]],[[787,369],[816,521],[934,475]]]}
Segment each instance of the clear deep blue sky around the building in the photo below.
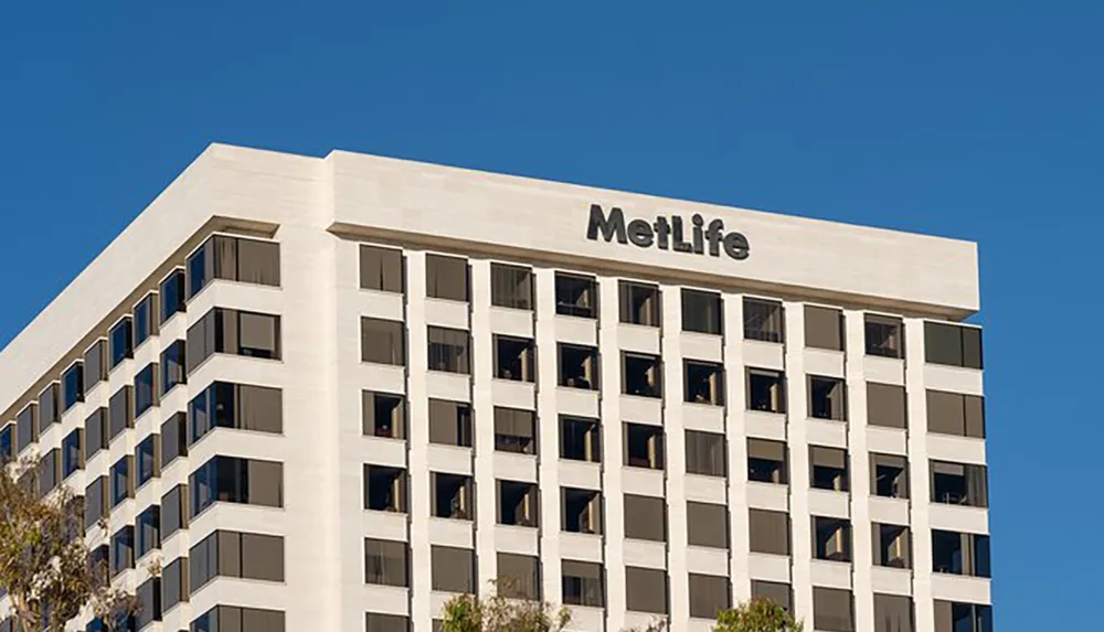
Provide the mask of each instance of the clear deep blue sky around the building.
{"label": "clear deep blue sky around the building", "polygon": [[212,141],[977,240],[997,626],[1098,626],[1104,6],[349,4],[3,3],[0,344]]}

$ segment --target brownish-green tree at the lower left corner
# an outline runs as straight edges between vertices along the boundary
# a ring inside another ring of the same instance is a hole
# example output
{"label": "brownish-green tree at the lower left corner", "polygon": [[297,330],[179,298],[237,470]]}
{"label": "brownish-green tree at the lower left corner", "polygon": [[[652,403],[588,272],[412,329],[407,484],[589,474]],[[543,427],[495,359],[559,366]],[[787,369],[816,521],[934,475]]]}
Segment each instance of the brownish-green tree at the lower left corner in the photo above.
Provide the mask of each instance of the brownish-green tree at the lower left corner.
{"label": "brownish-green tree at the lower left corner", "polygon": [[35,459],[0,463],[0,589],[24,630],[62,632],[86,607],[105,621],[136,611],[84,540],[81,499],[64,485],[39,497]]}

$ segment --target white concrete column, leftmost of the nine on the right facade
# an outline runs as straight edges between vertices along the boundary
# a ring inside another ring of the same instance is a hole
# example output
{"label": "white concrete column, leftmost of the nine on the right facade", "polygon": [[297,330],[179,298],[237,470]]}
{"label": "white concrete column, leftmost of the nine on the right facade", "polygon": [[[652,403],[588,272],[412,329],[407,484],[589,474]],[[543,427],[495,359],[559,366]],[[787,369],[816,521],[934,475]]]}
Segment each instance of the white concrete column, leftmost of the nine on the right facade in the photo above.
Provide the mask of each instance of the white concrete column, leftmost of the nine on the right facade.
{"label": "white concrete column, leftmost of the nine on the right facade", "polygon": [[410,463],[411,620],[416,630],[428,624],[436,612],[429,599],[429,515],[433,497],[429,478],[429,371],[425,321],[425,253],[406,250],[406,401],[407,461]]}

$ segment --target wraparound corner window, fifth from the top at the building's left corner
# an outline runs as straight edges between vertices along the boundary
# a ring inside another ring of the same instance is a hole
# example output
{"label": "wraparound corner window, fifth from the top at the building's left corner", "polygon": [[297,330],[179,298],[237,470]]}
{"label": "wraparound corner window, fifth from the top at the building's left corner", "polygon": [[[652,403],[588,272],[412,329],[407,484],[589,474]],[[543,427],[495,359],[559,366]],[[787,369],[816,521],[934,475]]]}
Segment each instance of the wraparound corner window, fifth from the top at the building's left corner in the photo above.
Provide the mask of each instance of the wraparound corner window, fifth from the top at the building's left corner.
{"label": "wraparound corner window, fifth from the top at the building's left corner", "polygon": [[192,594],[216,577],[284,581],[284,538],[216,531],[188,551],[188,560]]}

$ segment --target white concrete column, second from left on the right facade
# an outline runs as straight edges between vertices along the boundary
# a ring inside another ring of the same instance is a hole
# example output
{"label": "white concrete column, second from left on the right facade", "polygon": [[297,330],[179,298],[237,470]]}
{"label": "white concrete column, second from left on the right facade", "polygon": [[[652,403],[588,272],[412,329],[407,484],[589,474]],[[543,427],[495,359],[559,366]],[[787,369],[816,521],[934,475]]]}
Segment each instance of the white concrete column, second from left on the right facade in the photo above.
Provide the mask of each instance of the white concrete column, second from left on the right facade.
{"label": "white concrete column, second from left on the right facade", "polygon": [[480,591],[498,577],[495,524],[498,482],[495,480],[495,403],[491,378],[495,349],[491,334],[490,261],[471,259],[471,418],[476,480],[476,558]]}

